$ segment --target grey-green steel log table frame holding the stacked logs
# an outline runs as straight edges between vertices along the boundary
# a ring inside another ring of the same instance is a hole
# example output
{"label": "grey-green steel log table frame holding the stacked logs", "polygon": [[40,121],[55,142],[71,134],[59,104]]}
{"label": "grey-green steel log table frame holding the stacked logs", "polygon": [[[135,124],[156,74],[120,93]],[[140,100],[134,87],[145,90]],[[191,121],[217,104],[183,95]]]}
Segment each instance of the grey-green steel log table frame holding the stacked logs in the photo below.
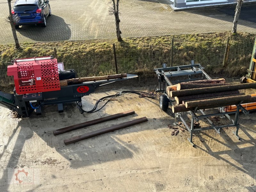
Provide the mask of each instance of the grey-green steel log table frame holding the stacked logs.
{"label": "grey-green steel log table frame holding the stacked logs", "polygon": [[[154,69],[156,75],[158,76],[158,89],[157,91],[164,92],[165,98],[168,99],[168,104],[171,104],[172,106],[175,106],[175,100],[174,98],[170,97],[170,94],[167,94],[166,87],[172,86],[174,84],[182,83],[182,82],[190,82],[190,81],[196,81],[196,80],[204,80],[204,79],[212,79],[205,71],[204,68],[200,64],[194,64],[194,61],[191,61],[190,65],[183,65],[183,66],[175,66],[175,67],[166,67],[166,64],[163,64],[163,68],[156,68]],[[178,80],[174,78],[179,78]],[[163,98],[159,100],[160,107],[163,106],[163,101],[165,101]],[[219,112],[218,113],[210,113],[206,114],[202,109],[199,109],[197,107],[189,108],[190,111],[188,112],[191,115],[191,124],[190,126],[186,123],[184,120],[183,112],[177,112],[174,113],[175,121],[174,125],[177,125],[177,119],[180,119],[182,123],[185,125],[185,127],[190,132],[190,137],[188,138],[188,141],[191,143],[192,146],[194,146],[193,143],[193,133],[199,132],[199,131],[205,131],[214,129],[217,133],[220,134],[220,129],[225,127],[236,127],[236,131],[233,132],[236,136],[236,138],[239,140],[240,137],[238,136],[238,130],[239,130],[239,124],[238,124],[238,116],[239,116],[239,110],[241,110],[244,114],[249,114],[249,112],[241,106],[241,103],[243,101],[240,101],[236,104],[236,111],[232,112],[225,112],[224,106],[213,106],[218,107]],[[168,105],[167,104],[167,105]],[[166,105],[165,105],[166,106]],[[185,105],[184,105],[185,106]],[[182,106],[181,106],[182,107]],[[212,108],[213,108],[212,107]],[[162,107],[161,107],[162,108]],[[197,115],[200,113],[200,115]],[[231,119],[229,116],[230,114],[235,114],[235,120]],[[220,116],[221,118],[227,117],[231,123],[226,125],[220,125],[216,126],[212,123],[212,121],[209,119],[211,116]],[[206,128],[194,128],[194,122],[199,121],[200,119],[206,119],[209,123],[209,127]]]}

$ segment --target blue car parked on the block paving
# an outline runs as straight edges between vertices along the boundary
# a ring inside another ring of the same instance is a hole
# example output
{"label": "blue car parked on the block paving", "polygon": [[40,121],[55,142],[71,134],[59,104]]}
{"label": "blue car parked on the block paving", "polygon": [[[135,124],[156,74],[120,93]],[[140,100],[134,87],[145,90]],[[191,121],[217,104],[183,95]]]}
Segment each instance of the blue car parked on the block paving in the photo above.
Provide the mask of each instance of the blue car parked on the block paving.
{"label": "blue car parked on the block paving", "polygon": [[20,25],[42,25],[46,27],[46,18],[51,16],[49,1],[45,0],[17,0],[13,6],[12,14],[20,17],[19,22],[14,23],[15,28]]}

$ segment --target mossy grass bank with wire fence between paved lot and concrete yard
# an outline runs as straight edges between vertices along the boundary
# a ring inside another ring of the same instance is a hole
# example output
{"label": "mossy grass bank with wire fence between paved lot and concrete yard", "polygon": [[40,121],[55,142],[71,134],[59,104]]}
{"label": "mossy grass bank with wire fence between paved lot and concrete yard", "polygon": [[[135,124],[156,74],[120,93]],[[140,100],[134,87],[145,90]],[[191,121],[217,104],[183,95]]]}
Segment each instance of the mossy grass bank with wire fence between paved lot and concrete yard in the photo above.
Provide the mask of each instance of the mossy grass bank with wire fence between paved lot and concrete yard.
{"label": "mossy grass bank with wire fence between paved lot and concrete yard", "polygon": [[[225,76],[239,76],[249,67],[255,35],[250,37],[236,36],[229,41],[227,67],[222,68],[227,44],[227,36],[220,37],[203,35],[174,36],[173,56],[172,37],[147,37],[125,39],[124,42],[115,40],[91,42],[59,42],[47,45],[40,51],[36,46],[26,47],[22,52],[15,52],[11,56],[1,53],[0,85],[12,84],[12,77],[7,76],[7,65],[11,65],[11,58],[26,58],[34,56],[54,55],[56,47],[58,62],[63,62],[65,69],[75,69],[79,77],[102,76],[115,74],[115,57],[113,43],[116,47],[116,62],[118,73],[135,73],[140,76],[154,76],[153,69],[166,63],[167,66],[186,65],[191,60],[200,63],[209,74],[224,74]],[[46,44],[46,43],[44,43]],[[26,50],[28,49],[28,50]],[[171,58],[173,60],[171,61]],[[8,61],[9,59],[9,61]]]}

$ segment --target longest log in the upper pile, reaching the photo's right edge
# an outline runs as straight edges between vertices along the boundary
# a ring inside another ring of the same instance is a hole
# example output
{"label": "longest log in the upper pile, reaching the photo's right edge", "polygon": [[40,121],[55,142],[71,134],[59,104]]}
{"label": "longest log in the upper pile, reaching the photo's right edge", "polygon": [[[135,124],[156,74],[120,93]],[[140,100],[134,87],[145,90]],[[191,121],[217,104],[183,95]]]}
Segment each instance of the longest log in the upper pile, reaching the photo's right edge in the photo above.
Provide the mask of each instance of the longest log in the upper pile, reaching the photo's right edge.
{"label": "longest log in the upper pile, reaching the photo's right edge", "polygon": [[203,88],[197,88],[197,89],[177,90],[177,91],[171,91],[170,97],[199,95],[204,93],[235,91],[239,89],[251,89],[251,88],[255,89],[256,83],[232,84],[232,85],[223,85],[223,86],[217,86],[217,87],[203,87]]}

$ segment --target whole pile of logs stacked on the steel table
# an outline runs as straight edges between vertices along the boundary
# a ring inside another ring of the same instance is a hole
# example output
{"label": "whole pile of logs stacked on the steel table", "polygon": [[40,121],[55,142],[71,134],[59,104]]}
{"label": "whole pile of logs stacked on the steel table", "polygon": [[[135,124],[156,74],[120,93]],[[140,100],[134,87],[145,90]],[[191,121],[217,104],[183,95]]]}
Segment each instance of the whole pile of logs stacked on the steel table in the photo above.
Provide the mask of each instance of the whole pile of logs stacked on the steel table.
{"label": "whole pile of logs stacked on the steel table", "polygon": [[[197,109],[234,106],[239,103],[253,103],[256,106],[256,94],[240,93],[241,89],[256,89],[256,83],[230,84],[225,79],[199,80],[180,83],[166,88],[169,97],[175,98],[177,105],[172,112],[184,112]],[[256,108],[256,107],[255,107]]]}

